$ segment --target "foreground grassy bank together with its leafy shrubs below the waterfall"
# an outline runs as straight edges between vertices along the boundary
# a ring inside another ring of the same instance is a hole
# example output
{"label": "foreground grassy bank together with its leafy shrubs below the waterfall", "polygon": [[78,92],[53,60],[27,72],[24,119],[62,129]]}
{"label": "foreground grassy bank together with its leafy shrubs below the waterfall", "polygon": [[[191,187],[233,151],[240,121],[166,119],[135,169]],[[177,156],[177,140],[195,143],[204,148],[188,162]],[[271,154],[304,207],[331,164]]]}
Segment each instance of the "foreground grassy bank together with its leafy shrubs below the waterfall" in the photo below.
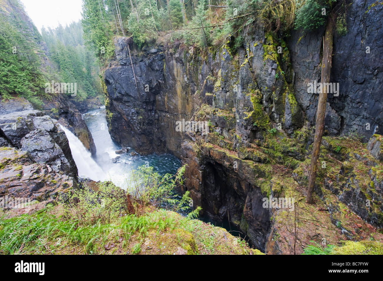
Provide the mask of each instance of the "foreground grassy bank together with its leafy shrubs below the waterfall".
{"label": "foreground grassy bank together with its leafy shrubs below the waterfall", "polygon": [[[57,206],[21,216],[3,214],[0,253],[262,254],[220,227],[175,212],[189,208],[184,204],[188,194],[177,199],[173,193],[182,169],[175,176],[140,170],[134,173],[132,180],[139,186],[131,195],[105,182],[97,191],[72,190]],[[161,202],[172,211],[155,207]]]}

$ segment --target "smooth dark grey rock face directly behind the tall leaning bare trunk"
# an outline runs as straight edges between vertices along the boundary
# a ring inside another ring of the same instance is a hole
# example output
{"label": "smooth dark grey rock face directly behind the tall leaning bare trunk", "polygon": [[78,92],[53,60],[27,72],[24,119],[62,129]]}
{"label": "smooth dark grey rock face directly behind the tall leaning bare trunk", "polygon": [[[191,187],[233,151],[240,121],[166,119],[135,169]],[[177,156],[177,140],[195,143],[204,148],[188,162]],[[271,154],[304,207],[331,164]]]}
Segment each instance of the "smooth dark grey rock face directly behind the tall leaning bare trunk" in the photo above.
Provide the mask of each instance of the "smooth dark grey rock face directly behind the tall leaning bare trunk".
{"label": "smooth dark grey rock face directly behind the tall leaning bare trunk", "polygon": [[[383,72],[379,54],[383,51],[383,30],[380,17],[382,5],[374,0],[354,1],[347,9],[347,34],[334,36],[331,82],[339,83],[339,96],[329,95],[335,117],[326,118],[330,133],[358,132],[368,140],[374,133],[382,134]],[[295,93],[306,113],[315,123],[318,95],[307,93],[307,83],[320,82],[322,33],[307,34],[303,38],[298,31],[288,41],[291,64],[295,72]],[[369,53],[366,53],[366,51]],[[370,124],[369,130],[366,123]],[[378,127],[376,127],[378,126]]]}

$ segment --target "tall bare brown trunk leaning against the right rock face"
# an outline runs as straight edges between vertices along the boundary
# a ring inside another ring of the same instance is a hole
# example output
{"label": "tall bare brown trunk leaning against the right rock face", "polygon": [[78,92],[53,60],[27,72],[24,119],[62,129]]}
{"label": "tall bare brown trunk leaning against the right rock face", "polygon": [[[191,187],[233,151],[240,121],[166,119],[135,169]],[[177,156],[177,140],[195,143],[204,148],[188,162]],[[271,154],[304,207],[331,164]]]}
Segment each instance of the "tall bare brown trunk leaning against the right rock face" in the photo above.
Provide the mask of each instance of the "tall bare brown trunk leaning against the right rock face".
{"label": "tall bare brown trunk leaning against the right rock face", "polygon": [[330,82],[331,60],[332,60],[332,39],[334,34],[334,21],[332,15],[327,20],[326,33],[323,41],[322,73],[321,83],[322,91],[319,93],[318,109],[316,111],[315,136],[313,144],[313,154],[311,155],[309,184],[307,188],[307,203],[313,203],[313,193],[315,186],[316,172],[318,171],[318,158],[321,151],[322,134],[324,127],[324,114],[326,113],[327,87],[324,86]]}

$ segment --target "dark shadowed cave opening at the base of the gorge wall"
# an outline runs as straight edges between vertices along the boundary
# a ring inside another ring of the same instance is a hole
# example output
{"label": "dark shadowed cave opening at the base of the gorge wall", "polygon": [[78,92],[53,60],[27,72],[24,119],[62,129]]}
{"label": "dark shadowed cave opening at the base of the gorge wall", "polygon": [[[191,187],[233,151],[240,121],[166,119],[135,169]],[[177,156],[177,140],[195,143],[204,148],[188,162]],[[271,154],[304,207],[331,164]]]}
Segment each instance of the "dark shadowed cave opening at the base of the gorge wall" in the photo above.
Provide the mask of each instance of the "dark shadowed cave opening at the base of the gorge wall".
{"label": "dark shadowed cave opening at the base of the gorge wall", "polygon": [[241,179],[234,169],[214,161],[206,162],[202,176],[202,219],[264,251],[270,214],[262,207],[265,196],[260,188]]}

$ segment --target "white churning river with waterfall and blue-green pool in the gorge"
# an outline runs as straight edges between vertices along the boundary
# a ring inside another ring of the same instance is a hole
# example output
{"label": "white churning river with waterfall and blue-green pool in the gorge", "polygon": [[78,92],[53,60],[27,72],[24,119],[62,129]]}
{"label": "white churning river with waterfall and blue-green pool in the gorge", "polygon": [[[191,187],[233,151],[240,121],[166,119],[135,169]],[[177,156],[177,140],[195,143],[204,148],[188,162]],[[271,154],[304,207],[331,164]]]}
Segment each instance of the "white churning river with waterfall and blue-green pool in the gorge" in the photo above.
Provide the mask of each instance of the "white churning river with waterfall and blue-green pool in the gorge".
{"label": "white churning river with waterfall and blue-green pool in the gorge", "polygon": [[[177,172],[177,169],[181,166],[181,161],[170,154],[151,154],[146,156],[137,154],[132,156],[131,152],[135,151],[131,148],[129,148],[128,153],[116,154],[115,151],[121,149],[121,146],[111,139],[105,114],[105,106],[83,114],[85,123],[92,133],[96,145],[97,157],[95,159],[83,147],[80,140],[64,128],[80,177],[90,178],[95,181],[110,180],[115,185],[125,188],[126,180],[130,177],[132,170],[142,165],[152,166],[155,171],[162,175]],[[113,163],[112,158],[118,156],[120,158],[116,163]]]}

